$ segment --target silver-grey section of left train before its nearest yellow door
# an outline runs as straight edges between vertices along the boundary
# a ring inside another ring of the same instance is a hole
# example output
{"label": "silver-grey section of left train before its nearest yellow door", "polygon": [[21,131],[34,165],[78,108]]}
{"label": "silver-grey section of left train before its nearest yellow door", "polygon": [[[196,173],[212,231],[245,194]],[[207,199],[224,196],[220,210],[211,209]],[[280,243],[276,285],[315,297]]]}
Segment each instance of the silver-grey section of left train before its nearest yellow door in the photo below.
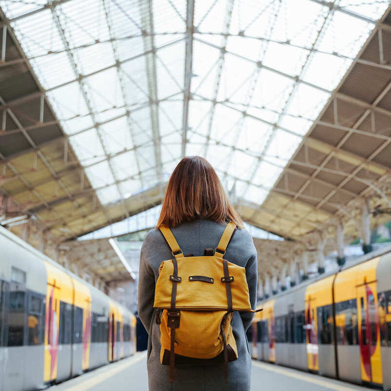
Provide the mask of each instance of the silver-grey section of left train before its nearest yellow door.
{"label": "silver-grey section of left train before its nearest yellow door", "polygon": [[21,239],[11,238],[1,228],[0,388],[20,391],[43,386],[46,271],[35,254],[23,250]]}

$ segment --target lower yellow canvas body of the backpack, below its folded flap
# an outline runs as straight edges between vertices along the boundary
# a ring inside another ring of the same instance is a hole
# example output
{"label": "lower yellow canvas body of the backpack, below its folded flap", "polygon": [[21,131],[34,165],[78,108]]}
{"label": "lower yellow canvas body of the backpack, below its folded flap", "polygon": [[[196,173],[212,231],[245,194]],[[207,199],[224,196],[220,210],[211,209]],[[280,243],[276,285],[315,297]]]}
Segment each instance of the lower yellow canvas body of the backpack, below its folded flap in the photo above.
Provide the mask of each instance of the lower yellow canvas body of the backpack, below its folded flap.
{"label": "lower yellow canvas body of the backpack, below its folded flap", "polygon": [[[227,311],[180,311],[180,324],[175,328],[175,354],[210,359],[223,351],[223,336],[220,332],[220,324]],[[235,353],[231,352],[231,358],[238,357],[235,338],[232,333],[233,313],[229,313],[224,321],[223,330],[227,345]],[[163,363],[165,350],[171,348],[171,328],[167,325],[167,309],[163,310],[160,323],[160,342],[162,349],[160,361]],[[230,360],[232,361],[232,360]]]}

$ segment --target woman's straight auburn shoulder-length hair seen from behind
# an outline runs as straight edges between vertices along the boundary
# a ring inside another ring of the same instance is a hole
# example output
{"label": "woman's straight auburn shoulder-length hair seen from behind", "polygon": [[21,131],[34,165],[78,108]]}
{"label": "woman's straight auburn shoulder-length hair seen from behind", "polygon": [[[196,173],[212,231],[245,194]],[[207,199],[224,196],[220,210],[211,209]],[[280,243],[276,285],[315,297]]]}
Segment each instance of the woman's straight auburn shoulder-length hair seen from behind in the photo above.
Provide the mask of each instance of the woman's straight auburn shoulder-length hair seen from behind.
{"label": "woman's straight auburn shoulder-length hair seen from behind", "polygon": [[222,224],[232,221],[243,228],[212,165],[203,157],[186,156],[171,174],[156,228],[175,227],[195,218]]}

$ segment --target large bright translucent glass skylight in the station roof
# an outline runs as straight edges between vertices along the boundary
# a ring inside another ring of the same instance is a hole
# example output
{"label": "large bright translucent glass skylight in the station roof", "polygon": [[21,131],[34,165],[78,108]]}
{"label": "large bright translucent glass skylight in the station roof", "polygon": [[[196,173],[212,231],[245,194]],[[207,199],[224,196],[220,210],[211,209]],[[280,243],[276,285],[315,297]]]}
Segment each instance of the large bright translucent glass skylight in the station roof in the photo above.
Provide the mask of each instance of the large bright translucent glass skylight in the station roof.
{"label": "large bright translucent glass skylight in the station roof", "polygon": [[0,0],[104,205],[193,154],[262,204],[389,1],[186,4]]}

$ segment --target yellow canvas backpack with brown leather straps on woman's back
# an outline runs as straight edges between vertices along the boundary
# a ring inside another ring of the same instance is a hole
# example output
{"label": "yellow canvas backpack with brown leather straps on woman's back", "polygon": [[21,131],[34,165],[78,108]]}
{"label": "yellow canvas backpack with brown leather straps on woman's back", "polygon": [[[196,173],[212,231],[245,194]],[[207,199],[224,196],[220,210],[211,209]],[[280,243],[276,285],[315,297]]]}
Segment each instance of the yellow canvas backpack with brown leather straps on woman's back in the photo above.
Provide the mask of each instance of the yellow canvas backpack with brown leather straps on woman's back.
{"label": "yellow canvas backpack with brown leather straps on woman's back", "polygon": [[173,258],[163,261],[155,287],[153,307],[160,325],[160,362],[170,365],[216,365],[224,362],[228,382],[228,361],[238,358],[232,333],[233,311],[251,309],[245,268],[223,258],[236,229],[229,222],[213,251],[184,256],[168,227],[159,227]]}

